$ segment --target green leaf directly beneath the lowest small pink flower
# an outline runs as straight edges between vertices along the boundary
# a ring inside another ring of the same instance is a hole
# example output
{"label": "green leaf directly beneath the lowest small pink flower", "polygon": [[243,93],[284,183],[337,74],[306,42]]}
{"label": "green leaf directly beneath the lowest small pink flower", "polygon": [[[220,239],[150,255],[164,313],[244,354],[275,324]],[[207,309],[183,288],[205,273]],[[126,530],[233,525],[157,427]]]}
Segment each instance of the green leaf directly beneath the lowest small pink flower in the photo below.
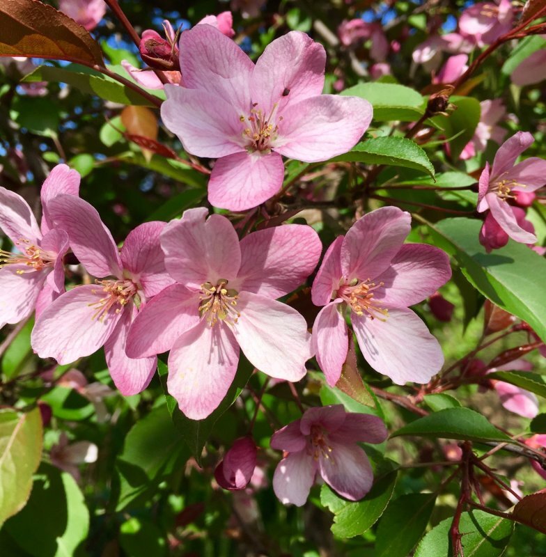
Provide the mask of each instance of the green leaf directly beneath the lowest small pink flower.
{"label": "green leaf directly beneath the lowest small pink flower", "polygon": [[320,489],[320,502],[334,513],[331,531],[339,538],[354,538],[373,526],[387,507],[396,484],[396,471],[376,478],[362,501],[345,501],[326,484]]}

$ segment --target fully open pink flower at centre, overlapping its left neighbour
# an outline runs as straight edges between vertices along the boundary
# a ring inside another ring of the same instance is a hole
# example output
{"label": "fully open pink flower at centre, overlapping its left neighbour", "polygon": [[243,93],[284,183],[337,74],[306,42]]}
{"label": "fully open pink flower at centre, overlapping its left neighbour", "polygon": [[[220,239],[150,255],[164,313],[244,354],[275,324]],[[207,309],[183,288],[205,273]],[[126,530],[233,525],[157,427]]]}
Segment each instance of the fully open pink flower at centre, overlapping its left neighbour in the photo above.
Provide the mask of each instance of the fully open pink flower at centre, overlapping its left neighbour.
{"label": "fully open pink flower at centre, overlapping its left neighbour", "polygon": [[276,298],[315,268],[320,240],[310,226],[289,224],[239,241],[226,217],[187,210],[161,237],[165,265],[178,281],[143,309],[127,354],[169,354],[169,393],[189,418],[206,418],[226,395],[239,348],[271,377],[299,381],[311,357],[302,315]]}

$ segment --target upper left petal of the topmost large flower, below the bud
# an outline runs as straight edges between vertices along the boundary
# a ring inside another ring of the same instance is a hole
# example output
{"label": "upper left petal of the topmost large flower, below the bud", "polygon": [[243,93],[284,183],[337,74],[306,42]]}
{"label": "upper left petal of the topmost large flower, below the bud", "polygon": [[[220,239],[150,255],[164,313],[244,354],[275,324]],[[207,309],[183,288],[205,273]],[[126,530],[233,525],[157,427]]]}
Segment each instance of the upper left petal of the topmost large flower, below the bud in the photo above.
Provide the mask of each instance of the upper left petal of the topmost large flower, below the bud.
{"label": "upper left petal of the topmost large flower, below the bud", "polygon": [[254,64],[247,54],[210,25],[184,31],[179,45],[185,86],[213,93],[233,105],[237,113],[248,116]]}

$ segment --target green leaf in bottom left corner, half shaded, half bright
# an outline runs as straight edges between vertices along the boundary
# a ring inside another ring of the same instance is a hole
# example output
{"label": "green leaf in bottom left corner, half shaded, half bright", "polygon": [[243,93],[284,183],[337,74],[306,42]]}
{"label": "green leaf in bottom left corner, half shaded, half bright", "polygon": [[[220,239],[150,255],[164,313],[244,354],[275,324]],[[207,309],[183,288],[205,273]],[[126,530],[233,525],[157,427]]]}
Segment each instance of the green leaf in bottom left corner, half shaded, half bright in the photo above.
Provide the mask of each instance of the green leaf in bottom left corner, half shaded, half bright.
{"label": "green leaf in bottom left corner, half shaded, half bright", "polygon": [[5,528],[33,557],[73,557],[89,531],[84,496],[67,472],[42,462],[38,474],[29,503]]}

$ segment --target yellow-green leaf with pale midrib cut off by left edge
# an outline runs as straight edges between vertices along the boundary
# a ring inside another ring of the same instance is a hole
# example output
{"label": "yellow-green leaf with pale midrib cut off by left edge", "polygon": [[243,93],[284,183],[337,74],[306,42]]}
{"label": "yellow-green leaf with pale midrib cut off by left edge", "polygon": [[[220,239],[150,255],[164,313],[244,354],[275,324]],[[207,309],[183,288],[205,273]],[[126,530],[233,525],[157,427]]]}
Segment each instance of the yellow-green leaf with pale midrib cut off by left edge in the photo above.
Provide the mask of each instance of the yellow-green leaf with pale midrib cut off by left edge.
{"label": "yellow-green leaf with pale midrib cut off by left edge", "polygon": [[29,499],[32,475],[42,457],[40,410],[0,409],[0,525]]}

